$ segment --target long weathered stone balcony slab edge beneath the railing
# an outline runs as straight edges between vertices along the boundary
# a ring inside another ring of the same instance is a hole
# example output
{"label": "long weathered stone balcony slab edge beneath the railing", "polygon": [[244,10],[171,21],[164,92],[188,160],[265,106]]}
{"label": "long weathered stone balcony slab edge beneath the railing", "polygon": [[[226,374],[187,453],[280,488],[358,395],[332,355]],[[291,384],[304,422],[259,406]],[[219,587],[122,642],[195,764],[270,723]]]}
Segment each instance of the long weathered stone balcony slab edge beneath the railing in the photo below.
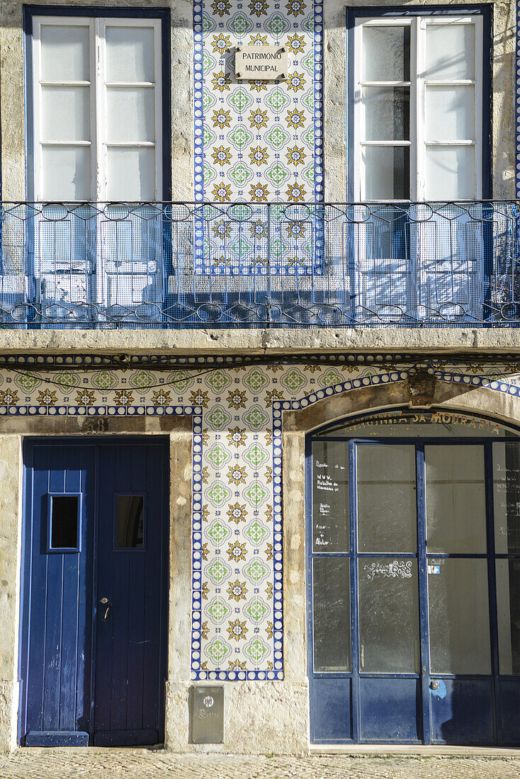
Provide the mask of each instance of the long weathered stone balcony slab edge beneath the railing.
{"label": "long weathered stone balcony slab edge beneath the railing", "polygon": [[[83,364],[85,355],[149,355],[150,367],[157,354],[187,355],[195,361],[228,354],[266,357],[319,352],[363,354],[376,349],[380,354],[444,354],[455,351],[480,353],[520,351],[520,329],[516,327],[470,328],[348,328],[326,327],[269,330],[0,330],[0,354],[35,355],[33,365],[44,354],[76,352],[64,358],[64,365]],[[31,359],[29,356],[27,359]],[[30,363],[27,362],[27,367]]]}

